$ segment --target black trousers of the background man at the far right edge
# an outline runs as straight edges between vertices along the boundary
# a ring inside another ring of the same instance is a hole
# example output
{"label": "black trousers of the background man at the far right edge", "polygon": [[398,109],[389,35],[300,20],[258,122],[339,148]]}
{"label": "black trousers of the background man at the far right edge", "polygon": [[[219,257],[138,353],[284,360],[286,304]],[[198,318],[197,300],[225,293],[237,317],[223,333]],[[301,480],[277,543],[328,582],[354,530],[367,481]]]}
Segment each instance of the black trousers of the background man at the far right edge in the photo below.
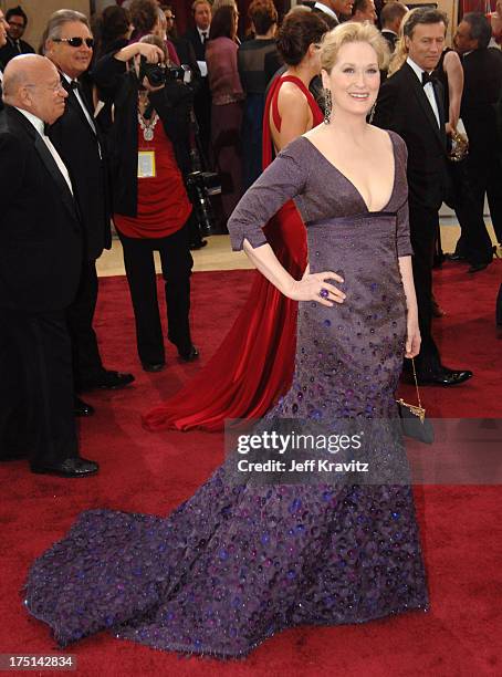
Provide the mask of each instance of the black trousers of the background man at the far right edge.
{"label": "black trousers of the background man at the far right edge", "polygon": [[[494,150],[494,149],[493,149]],[[488,263],[492,260],[492,241],[484,223],[484,197],[496,241],[502,241],[502,163],[495,153],[472,153],[466,159],[464,190],[456,207],[461,237],[456,251],[470,263]]]}

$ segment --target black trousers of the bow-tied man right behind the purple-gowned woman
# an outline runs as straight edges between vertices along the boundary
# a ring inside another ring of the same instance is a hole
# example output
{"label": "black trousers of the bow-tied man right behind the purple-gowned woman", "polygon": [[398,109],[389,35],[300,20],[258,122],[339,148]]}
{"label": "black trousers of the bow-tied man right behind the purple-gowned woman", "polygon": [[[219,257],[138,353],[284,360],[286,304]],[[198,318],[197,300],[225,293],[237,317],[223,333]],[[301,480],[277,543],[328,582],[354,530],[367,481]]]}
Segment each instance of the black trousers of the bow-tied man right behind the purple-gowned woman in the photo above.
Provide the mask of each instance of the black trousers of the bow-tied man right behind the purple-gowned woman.
{"label": "black trousers of the bow-tied man right behind the purple-gowned woman", "polygon": [[432,263],[439,228],[438,210],[409,200],[409,225],[414,248],[412,268],[417,293],[420,354],[415,358],[417,372],[427,376],[441,368],[439,351],[432,338]]}

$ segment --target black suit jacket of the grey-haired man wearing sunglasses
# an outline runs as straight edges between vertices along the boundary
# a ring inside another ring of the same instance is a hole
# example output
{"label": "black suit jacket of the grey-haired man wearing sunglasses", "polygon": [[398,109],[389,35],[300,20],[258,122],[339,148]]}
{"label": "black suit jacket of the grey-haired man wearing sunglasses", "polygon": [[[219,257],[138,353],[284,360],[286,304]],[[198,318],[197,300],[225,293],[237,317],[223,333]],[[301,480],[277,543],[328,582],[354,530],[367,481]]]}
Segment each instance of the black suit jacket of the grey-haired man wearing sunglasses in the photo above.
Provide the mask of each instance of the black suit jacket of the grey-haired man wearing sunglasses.
{"label": "black suit jacket of the grey-haired man wearing sunglasses", "polygon": [[[61,82],[69,92],[66,108],[49,136],[72,177],[84,225],[84,256],[92,261],[112,246],[106,146],[96,125],[97,135],[93,132],[67,81],[62,76]],[[85,93],[83,96],[86,100]]]}

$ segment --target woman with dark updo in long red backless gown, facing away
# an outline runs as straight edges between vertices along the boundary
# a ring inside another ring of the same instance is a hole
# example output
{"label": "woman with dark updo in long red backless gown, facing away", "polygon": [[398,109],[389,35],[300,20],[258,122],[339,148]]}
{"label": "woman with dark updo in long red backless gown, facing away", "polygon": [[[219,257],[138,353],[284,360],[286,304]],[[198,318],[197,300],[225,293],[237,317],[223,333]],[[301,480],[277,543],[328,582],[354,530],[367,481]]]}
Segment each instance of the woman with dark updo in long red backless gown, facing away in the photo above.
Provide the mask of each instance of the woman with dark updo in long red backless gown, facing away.
{"label": "woman with dark updo in long red backless gown, facing away", "polygon": [[[327,25],[305,10],[290,12],[278,37],[286,64],[272,83],[263,117],[263,166],[291,140],[321,124],[308,91],[321,71],[318,43]],[[265,227],[276,257],[300,279],[306,267],[305,226],[287,202]],[[147,429],[221,430],[226,418],[258,418],[290,387],[296,343],[297,303],[255,273],[249,299],[207,366],[179,393],[146,416]]]}

